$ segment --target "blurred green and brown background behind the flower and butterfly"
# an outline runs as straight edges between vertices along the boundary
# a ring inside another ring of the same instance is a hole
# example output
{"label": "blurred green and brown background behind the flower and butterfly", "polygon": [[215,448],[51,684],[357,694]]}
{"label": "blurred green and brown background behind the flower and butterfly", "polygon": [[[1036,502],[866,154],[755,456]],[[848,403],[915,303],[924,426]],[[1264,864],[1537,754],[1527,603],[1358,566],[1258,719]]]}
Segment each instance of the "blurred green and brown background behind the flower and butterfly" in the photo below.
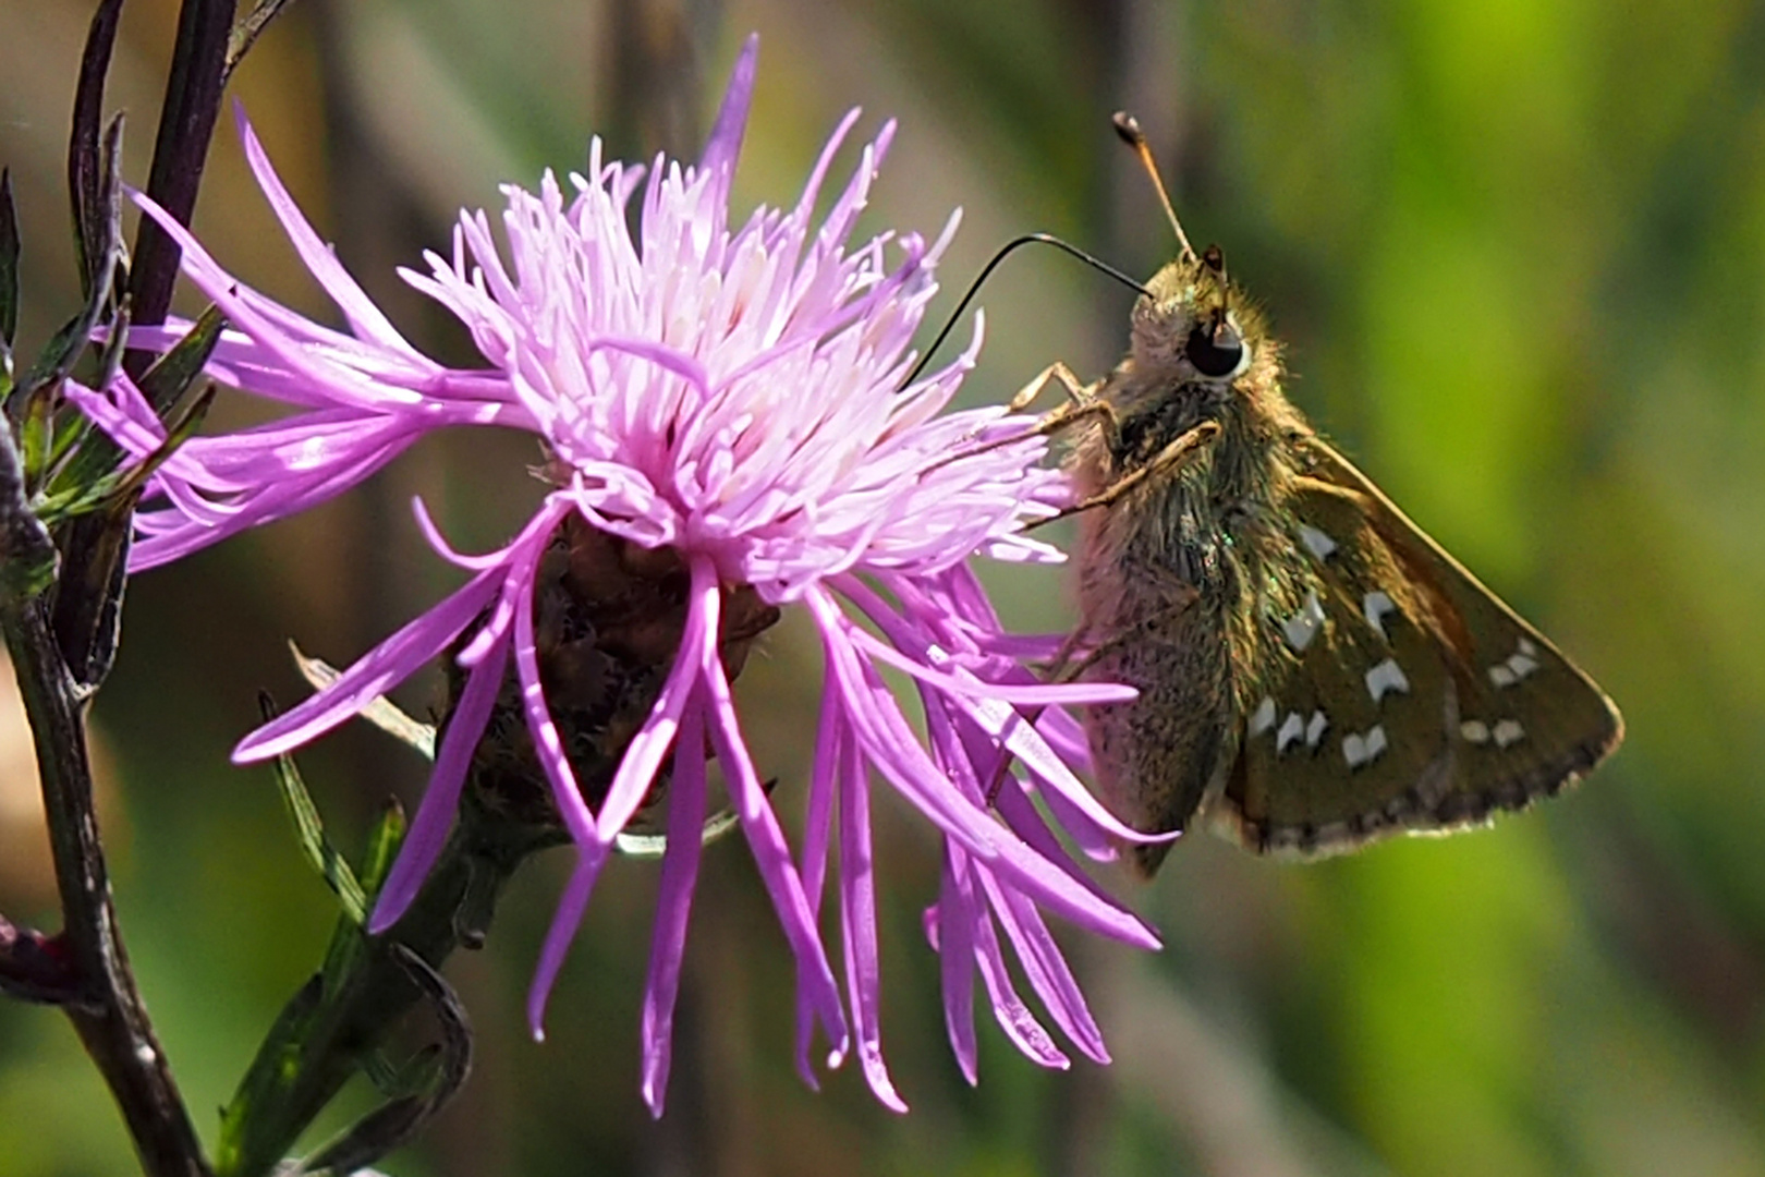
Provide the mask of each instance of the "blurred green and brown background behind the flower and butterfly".
{"label": "blurred green and brown background behind the flower and butterfly", "polygon": [[[76,304],[62,159],[85,0],[0,0],[0,162],[25,222],[26,348]],[[146,175],[175,4],[125,9],[109,106]],[[902,132],[870,226],[967,212],[948,309],[1010,236],[1048,229],[1151,274],[1168,231],[1107,116],[1149,131],[1186,228],[1269,309],[1313,420],[1620,702],[1587,787],[1493,831],[1317,866],[1195,838],[1115,881],[1161,955],[1071,941],[1115,1052],[1041,1073],[983,1025],[944,1045],[918,911],[930,829],[879,803],[884,1046],[913,1113],[856,1068],[807,1091],[791,983],[747,851],[708,856],[669,1115],[637,1096],[653,868],[607,877],[552,999],[521,1004],[561,861],[517,881],[450,978],[480,1031],[464,1096],[385,1168],[521,1173],[1765,1173],[1765,9],[1731,0],[302,0],[235,79],[286,182],[394,319],[469,351],[394,265],[461,205],[616,152],[695,152],[741,35],[761,76],[738,203],[792,201],[851,104]],[[847,154],[847,164],[852,154]],[[198,229],[314,314],[217,134]],[[974,401],[1054,358],[1098,374],[1130,295],[1052,252],[985,291]],[[187,304],[185,309],[194,309]],[[245,420],[231,404],[224,424]],[[300,686],[448,586],[424,494],[492,544],[533,494],[526,439],[439,439],[367,492],[131,586],[99,699],[129,949],[192,1113],[222,1103],[334,918],[270,776],[228,766],[254,692]],[[990,584],[1070,621],[1063,577]],[[741,681],[780,796],[815,655],[787,623]],[[406,702],[432,702],[424,686]],[[0,911],[53,926],[19,736],[0,738]],[[348,731],[304,757],[349,843],[422,766]],[[785,801],[789,806],[789,801]],[[365,1106],[357,1103],[357,1110]],[[62,1018],[0,1004],[0,1173],[131,1172]]]}

